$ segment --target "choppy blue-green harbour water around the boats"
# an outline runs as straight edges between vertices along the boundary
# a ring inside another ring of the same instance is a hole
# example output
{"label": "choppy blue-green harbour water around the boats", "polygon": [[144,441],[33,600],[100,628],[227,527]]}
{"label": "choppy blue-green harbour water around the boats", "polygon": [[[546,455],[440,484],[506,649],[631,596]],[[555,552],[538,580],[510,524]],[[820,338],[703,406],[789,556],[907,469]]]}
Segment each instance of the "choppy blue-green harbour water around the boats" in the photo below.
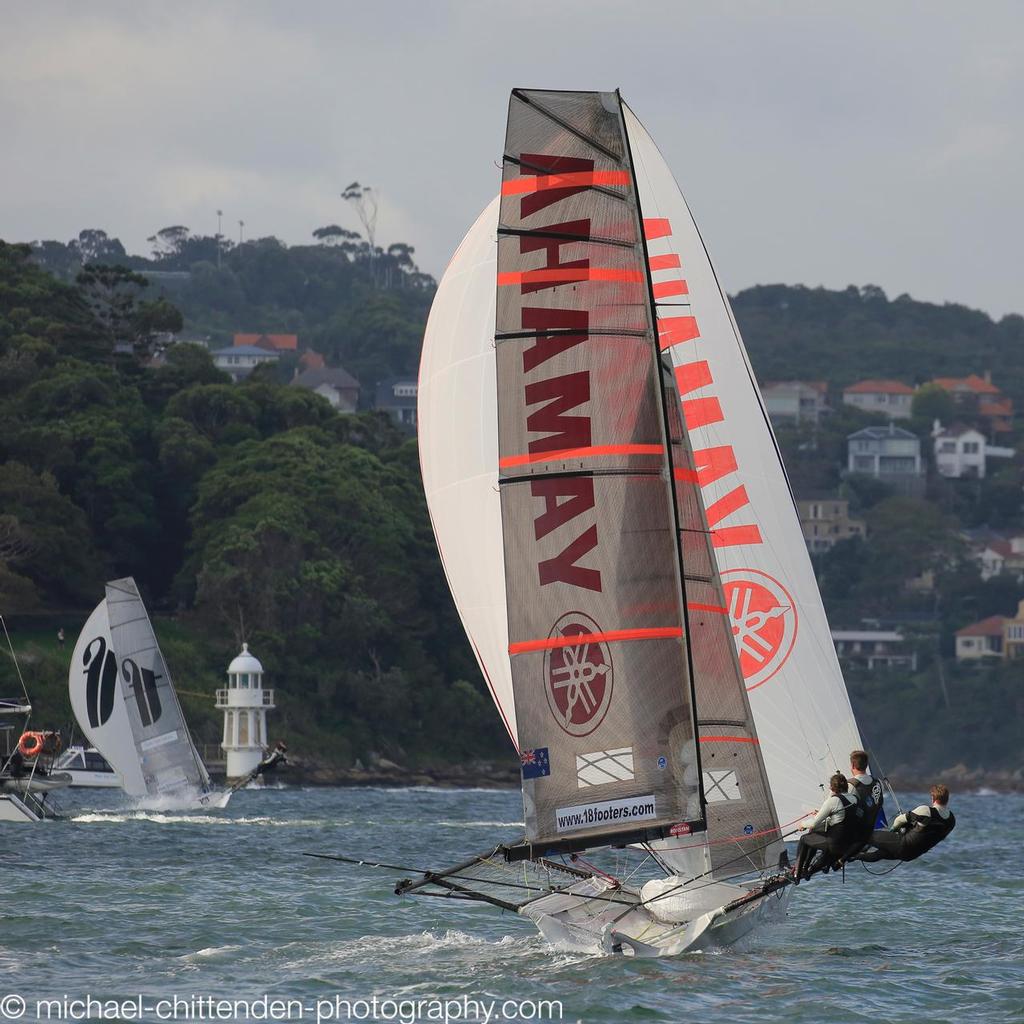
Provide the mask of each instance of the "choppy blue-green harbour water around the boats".
{"label": "choppy blue-green harbour water around the boats", "polygon": [[[662,961],[557,952],[513,914],[399,899],[399,872],[302,856],[452,863],[515,837],[515,793],[247,791],[199,814],[73,791],[62,806],[70,821],[0,825],[0,1011],[19,993],[27,1021],[37,998],[136,993],[145,1020],[175,994],[264,993],[302,1002],[303,1020],[318,999],[375,994],[559,1000],[560,1019],[587,1022],[1024,1020],[1021,796],[954,795],[956,830],[918,863],[816,879],[742,950]],[[551,1019],[532,1005],[506,1016]]]}

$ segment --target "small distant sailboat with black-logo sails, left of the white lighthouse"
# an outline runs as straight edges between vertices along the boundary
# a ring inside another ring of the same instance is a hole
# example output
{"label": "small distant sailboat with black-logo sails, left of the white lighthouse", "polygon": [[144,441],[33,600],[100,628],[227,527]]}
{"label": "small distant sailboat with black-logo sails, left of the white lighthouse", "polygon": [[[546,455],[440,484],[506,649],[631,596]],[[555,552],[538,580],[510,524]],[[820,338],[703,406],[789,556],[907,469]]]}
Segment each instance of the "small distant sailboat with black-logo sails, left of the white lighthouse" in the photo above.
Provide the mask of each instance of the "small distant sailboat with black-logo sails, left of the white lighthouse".
{"label": "small distant sailboat with black-logo sails, left of the white lighthouse", "polygon": [[131,797],[223,807],[211,792],[153,624],[131,578],[106,584],[72,654],[71,706]]}

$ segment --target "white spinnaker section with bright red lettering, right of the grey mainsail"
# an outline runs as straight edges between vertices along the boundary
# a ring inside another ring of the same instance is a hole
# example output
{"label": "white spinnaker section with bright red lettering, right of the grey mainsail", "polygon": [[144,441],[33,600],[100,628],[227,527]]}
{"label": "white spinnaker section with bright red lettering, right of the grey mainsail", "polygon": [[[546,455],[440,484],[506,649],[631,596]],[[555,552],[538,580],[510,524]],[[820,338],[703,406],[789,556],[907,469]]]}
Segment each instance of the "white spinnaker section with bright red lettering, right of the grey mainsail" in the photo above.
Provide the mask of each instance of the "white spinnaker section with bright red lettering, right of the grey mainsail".
{"label": "white spinnaker section with bright red lettering, right of the grey mainsail", "polygon": [[[785,471],[746,351],[664,158],[625,108],[663,348],[697,457],[778,817],[820,802],[861,745]],[[702,467],[702,468],[701,468]]]}

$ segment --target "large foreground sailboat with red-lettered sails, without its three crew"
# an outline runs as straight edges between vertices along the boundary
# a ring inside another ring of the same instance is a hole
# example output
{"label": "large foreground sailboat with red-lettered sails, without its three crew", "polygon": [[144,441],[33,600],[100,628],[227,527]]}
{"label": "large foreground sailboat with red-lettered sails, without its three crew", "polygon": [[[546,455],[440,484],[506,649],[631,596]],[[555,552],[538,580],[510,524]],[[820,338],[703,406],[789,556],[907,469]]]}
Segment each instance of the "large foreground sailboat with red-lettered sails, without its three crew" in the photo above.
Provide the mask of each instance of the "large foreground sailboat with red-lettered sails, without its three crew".
{"label": "large foreground sailboat with red-lettered sails, without its three crew", "polygon": [[860,736],[728,299],[617,92],[512,92],[501,195],[431,308],[419,435],[525,836],[396,892],[631,955],[784,915],[784,840]]}

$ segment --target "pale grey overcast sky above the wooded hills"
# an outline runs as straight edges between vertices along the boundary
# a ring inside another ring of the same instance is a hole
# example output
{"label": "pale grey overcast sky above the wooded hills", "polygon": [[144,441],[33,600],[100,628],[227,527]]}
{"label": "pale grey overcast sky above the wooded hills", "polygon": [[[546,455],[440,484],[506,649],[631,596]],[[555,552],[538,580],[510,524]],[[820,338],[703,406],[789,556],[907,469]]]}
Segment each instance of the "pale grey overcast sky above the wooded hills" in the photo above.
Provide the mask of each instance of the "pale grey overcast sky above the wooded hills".
{"label": "pale grey overcast sky above the wooded hills", "polygon": [[509,89],[616,86],[730,292],[881,285],[1024,311],[1024,5],[8,2],[0,238],[310,241],[439,274],[498,187]]}

